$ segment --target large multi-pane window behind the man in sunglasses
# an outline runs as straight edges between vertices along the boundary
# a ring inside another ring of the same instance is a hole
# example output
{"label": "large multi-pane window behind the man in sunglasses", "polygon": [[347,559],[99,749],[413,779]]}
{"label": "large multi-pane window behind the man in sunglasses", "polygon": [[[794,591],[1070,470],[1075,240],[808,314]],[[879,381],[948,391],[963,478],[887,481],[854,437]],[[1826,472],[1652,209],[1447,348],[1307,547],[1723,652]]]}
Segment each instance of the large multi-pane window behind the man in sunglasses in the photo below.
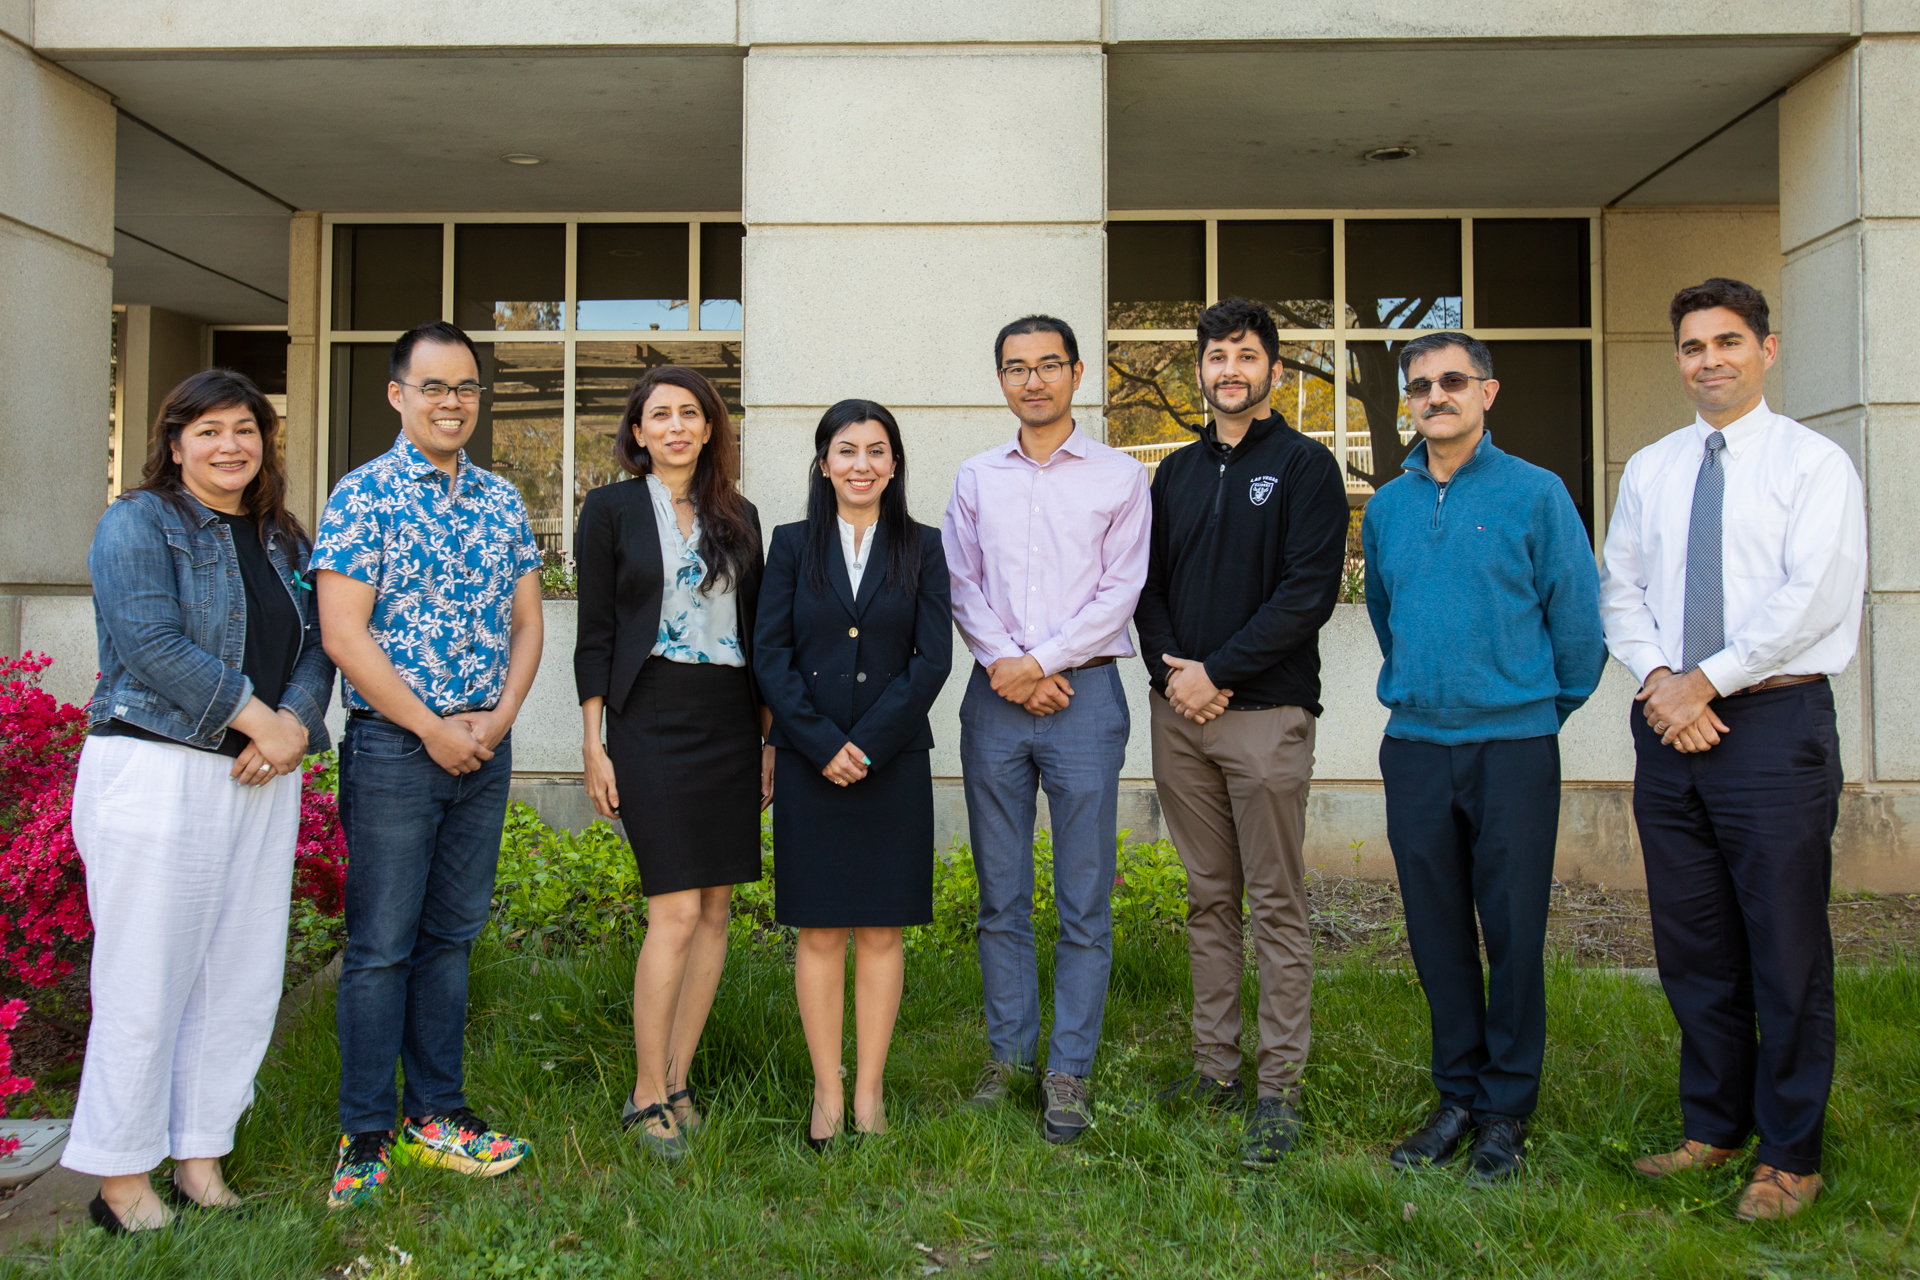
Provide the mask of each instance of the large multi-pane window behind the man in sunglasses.
{"label": "large multi-pane window behind the man in sunglasses", "polygon": [[1500,447],[1555,472],[1599,537],[1592,246],[1590,215],[1114,215],[1108,439],[1150,466],[1188,443],[1208,418],[1194,317],[1252,297],[1281,330],[1273,405],[1332,449],[1357,509],[1415,438],[1400,347],[1463,330],[1494,351]]}

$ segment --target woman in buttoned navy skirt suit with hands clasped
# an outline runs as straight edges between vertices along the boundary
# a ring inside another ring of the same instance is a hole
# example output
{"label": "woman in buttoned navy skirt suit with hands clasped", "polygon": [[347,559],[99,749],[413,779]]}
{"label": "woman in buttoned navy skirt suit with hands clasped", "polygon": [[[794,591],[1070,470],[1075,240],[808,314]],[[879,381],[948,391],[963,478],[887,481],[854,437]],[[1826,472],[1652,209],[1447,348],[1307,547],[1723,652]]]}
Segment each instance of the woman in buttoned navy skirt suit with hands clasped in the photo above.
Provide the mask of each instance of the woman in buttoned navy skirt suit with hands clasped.
{"label": "woman in buttoned navy skirt suit with hands clasped", "polygon": [[793,986],[814,1061],[816,1150],[845,1117],[849,931],[852,1123],[885,1128],[900,929],[933,921],[927,710],[952,666],[947,591],[939,530],[906,514],[899,422],[874,401],[843,399],[814,432],[806,520],[774,530],[753,652],[774,712],[774,919],[801,931]]}

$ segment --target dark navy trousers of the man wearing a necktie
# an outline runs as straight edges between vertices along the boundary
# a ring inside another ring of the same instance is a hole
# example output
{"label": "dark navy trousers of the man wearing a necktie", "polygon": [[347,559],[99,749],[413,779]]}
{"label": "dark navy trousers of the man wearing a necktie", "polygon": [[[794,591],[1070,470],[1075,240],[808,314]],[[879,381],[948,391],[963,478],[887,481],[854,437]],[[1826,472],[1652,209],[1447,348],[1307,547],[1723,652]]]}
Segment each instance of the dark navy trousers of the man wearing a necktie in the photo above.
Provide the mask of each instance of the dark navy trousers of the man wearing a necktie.
{"label": "dark navy trousers of the man wearing a necktie", "polygon": [[1680,1023],[1686,1136],[1788,1173],[1820,1169],[1834,1084],[1834,938],[1826,898],[1839,819],[1828,681],[1713,710],[1732,729],[1686,756],[1634,723],[1634,821],[1653,948]]}

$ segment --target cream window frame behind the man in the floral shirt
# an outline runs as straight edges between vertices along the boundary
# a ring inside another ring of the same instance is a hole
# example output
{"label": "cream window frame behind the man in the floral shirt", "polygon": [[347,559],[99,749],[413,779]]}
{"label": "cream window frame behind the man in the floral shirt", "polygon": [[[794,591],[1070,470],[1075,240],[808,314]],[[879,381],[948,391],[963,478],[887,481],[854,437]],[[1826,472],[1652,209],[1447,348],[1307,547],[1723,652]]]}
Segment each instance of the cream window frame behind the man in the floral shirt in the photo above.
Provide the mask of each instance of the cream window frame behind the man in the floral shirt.
{"label": "cream window frame behind the man in the floral shirt", "polygon": [[[647,342],[659,345],[699,342],[741,342],[737,328],[701,328],[701,225],[745,223],[741,211],[622,211],[622,213],[324,213],[321,215],[321,336],[319,336],[319,395],[315,401],[315,443],[321,464],[315,468],[313,509],[323,510],[330,493],[328,459],[332,457],[332,347],[334,344],[394,342],[401,330],[334,328],[334,226],[340,225],[440,225],[440,319],[453,322],[453,228],[474,223],[543,223],[563,225],[566,234],[566,296],[561,303],[561,328],[492,328],[468,330],[480,342],[553,342],[563,345],[564,388],[561,391],[561,493],[574,491],[574,397],[576,347],[582,342]],[[687,328],[576,328],[578,249],[582,223],[685,223],[687,226]],[[745,288],[745,286],[743,286]],[[574,553],[574,522],[561,518],[561,551]]]}

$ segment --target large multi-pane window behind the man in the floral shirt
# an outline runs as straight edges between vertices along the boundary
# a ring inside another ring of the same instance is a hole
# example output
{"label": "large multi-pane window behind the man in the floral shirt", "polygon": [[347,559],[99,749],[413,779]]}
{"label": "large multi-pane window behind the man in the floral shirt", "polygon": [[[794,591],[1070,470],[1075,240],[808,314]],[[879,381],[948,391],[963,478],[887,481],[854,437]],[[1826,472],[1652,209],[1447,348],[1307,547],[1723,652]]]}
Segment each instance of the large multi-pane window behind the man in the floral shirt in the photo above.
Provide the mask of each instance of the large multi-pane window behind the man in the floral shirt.
{"label": "large multi-pane window behind the man in the floral shirt", "polygon": [[480,345],[490,393],[467,453],[520,489],[543,551],[570,553],[580,499],[624,474],[612,436],[645,368],[699,368],[741,430],[737,213],[328,221],[326,487],[392,447],[388,355],[424,320]]}

